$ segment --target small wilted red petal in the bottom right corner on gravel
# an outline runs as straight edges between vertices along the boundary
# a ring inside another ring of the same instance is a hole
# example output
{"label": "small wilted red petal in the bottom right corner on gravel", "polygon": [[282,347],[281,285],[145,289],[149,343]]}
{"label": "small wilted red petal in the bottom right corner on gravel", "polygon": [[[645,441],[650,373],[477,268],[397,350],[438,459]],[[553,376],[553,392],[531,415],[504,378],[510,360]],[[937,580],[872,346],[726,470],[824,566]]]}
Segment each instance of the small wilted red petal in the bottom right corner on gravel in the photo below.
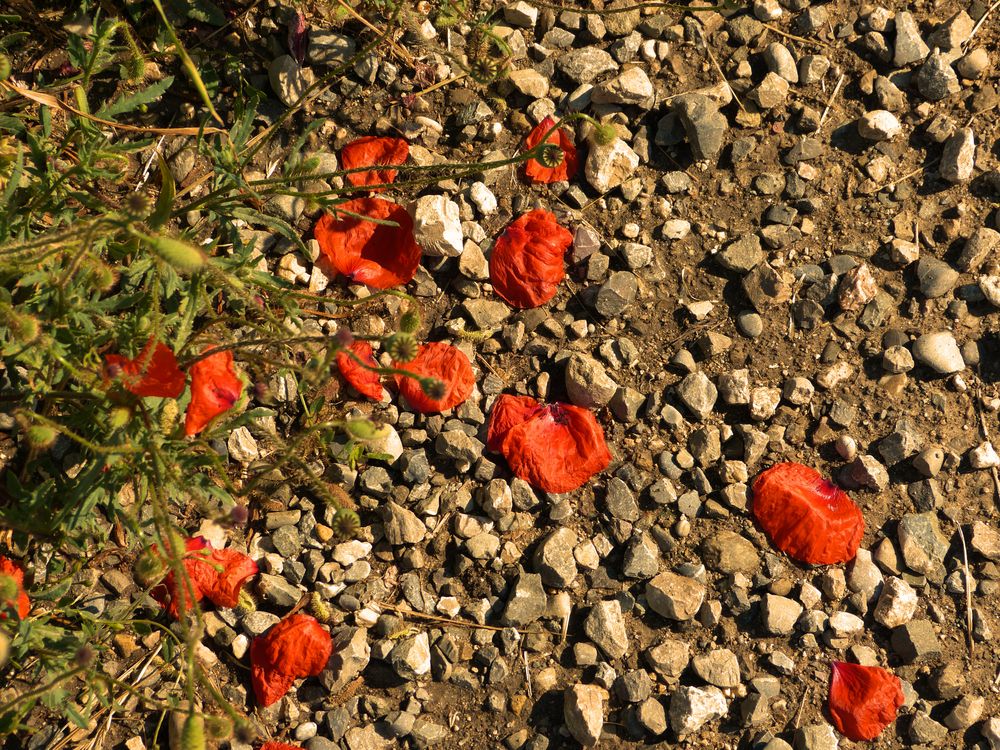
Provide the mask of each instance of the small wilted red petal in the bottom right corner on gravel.
{"label": "small wilted red petal in the bottom right corner on gravel", "polygon": [[899,678],[891,672],[833,662],[827,708],[833,725],[848,739],[857,742],[878,737],[896,720],[903,702]]}

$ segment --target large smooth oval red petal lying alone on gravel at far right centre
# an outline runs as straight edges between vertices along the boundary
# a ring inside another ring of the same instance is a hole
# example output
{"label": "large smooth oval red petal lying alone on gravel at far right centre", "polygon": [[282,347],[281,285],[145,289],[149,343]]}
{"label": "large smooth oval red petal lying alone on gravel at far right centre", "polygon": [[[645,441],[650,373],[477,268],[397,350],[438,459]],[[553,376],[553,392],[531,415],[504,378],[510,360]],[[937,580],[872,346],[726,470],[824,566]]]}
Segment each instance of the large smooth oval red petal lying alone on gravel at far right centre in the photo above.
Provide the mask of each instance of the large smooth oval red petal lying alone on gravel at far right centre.
{"label": "large smooth oval red petal lying alone on gravel at far right centre", "polygon": [[777,464],[757,477],[753,514],[778,549],[813,565],[853,560],[865,533],[847,493],[797,463]]}

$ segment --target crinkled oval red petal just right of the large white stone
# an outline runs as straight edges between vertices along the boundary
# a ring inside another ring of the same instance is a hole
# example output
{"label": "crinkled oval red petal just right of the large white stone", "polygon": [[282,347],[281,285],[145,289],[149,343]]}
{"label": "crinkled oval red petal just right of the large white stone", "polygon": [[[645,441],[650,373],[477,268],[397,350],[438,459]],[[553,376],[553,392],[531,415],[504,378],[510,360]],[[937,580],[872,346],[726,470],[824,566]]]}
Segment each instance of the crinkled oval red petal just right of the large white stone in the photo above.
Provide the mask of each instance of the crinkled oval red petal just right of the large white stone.
{"label": "crinkled oval red petal just right of the large white stone", "polygon": [[566,276],[573,235],[555,214],[535,209],[508,225],[490,254],[493,290],[514,307],[538,307],[555,296]]}

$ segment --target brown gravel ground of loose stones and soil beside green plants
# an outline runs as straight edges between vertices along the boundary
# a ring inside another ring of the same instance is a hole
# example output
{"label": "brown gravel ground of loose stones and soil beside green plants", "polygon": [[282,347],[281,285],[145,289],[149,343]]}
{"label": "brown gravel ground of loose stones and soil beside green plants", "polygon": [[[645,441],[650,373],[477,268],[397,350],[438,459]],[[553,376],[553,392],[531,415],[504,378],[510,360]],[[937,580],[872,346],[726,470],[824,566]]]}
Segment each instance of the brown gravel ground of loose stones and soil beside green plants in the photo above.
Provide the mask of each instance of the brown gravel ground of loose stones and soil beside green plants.
{"label": "brown gravel ground of loose stones and soil beside green plants", "polygon": [[[312,153],[332,166],[375,134],[405,137],[417,164],[510,156],[571,111],[620,139],[588,144],[581,126],[569,183],[529,186],[507,168],[386,194],[413,200],[422,227],[408,286],[420,334],[465,351],[477,388],[431,416],[341,391],[338,408],[390,427],[392,460],[355,472],[314,457],[357,502],[356,540],[332,541],[332,511],[291,479],[254,504],[232,543],[261,566],[257,609],[207,615],[201,656],[224,692],[253,708],[249,638],[314,593],[330,668],[259,713],[266,733],[308,750],[831,750],[852,744],[824,713],[834,660],[903,682],[899,719],[872,744],[1000,748],[1000,11],[496,10],[505,78],[414,96],[460,75],[455,56],[477,42],[468,23],[411,16],[399,48],[362,60],[296,121],[325,120]],[[307,14],[300,67],[290,12],[270,3],[239,27],[273,60],[255,74],[275,97],[262,122],[370,38]],[[198,160],[174,151],[184,185]],[[519,312],[492,293],[486,257],[535,207],[574,244],[555,299]],[[292,198],[269,209],[304,236],[316,216]],[[278,275],[338,287],[315,258],[247,231]],[[394,302],[356,329],[382,333]],[[289,424],[289,383],[270,391]],[[565,495],[512,479],[484,448],[500,393],[593,408],[611,466]],[[219,450],[238,473],[267,455],[266,430]],[[748,487],[783,461],[860,506],[853,562],[795,563],[754,525]],[[115,572],[98,585],[127,590]],[[143,647],[119,646],[123,660]]]}

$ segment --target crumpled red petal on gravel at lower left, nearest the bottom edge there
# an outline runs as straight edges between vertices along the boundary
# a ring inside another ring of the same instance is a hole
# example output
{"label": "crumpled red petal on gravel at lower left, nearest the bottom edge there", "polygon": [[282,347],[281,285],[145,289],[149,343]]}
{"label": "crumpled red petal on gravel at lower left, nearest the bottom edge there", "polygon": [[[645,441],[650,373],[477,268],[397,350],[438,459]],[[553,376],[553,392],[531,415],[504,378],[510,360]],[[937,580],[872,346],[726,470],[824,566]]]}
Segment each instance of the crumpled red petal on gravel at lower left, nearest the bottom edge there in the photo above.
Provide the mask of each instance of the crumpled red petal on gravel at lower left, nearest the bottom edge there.
{"label": "crumpled red petal on gravel at lower left, nearest the bottom edge there", "polygon": [[250,644],[250,677],[261,706],[281,699],[299,677],[323,671],[333,641],[330,633],[309,615],[292,615]]}

